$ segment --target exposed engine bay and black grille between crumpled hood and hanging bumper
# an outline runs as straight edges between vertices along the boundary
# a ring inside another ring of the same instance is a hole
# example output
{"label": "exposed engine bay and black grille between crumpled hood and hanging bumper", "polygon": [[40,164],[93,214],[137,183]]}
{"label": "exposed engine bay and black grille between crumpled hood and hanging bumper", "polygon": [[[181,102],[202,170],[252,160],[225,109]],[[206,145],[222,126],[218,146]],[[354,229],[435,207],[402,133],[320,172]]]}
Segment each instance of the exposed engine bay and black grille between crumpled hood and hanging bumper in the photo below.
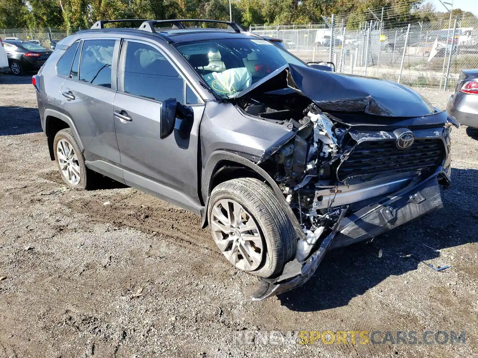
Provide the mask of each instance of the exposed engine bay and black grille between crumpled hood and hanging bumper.
{"label": "exposed engine bay and black grille between crumpled hood and hanging bumper", "polygon": [[407,128],[384,126],[377,131],[362,126],[355,130],[350,115],[324,112],[297,93],[255,96],[238,105],[251,116],[295,132],[261,162],[274,173],[273,179],[304,232],[305,239],[297,245],[299,262],[331,232],[345,205],[353,212],[378,197],[386,198],[426,178],[445,159],[439,139],[443,126],[428,131],[424,138],[418,137],[421,133],[412,134],[416,147],[410,152],[397,147],[397,138],[403,134],[408,138]]}

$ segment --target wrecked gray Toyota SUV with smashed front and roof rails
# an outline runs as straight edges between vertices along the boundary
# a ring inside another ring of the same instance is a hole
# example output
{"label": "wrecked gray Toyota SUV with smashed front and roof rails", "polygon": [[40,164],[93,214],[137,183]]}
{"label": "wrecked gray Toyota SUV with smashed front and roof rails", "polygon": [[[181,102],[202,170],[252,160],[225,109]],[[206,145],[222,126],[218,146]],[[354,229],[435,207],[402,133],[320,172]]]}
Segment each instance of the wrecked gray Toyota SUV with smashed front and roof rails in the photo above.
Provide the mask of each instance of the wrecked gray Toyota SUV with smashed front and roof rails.
{"label": "wrecked gray Toyota SUV with smashed front and roof rails", "polygon": [[261,278],[253,299],[442,207],[459,124],[412,89],[321,71],[234,22],[109,22],[33,77],[51,159],[73,188],[100,173],[201,215]]}

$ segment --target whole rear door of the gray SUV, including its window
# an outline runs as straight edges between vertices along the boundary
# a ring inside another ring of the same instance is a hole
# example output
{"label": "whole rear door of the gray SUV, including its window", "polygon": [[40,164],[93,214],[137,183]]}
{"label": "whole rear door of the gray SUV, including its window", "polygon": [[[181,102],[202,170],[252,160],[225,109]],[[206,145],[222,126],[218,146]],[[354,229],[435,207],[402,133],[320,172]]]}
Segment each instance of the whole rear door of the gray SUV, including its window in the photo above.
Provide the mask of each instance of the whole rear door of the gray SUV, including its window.
{"label": "whole rear door of the gray SUV, including its window", "polygon": [[60,95],[60,107],[73,118],[85,147],[85,159],[103,160],[115,166],[120,166],[120,151],[113,117],[116,80],[111,79],[116,79],[116,71],[112,74],[112,69],[117,63],[118,51],[116,40],[84,41]]}

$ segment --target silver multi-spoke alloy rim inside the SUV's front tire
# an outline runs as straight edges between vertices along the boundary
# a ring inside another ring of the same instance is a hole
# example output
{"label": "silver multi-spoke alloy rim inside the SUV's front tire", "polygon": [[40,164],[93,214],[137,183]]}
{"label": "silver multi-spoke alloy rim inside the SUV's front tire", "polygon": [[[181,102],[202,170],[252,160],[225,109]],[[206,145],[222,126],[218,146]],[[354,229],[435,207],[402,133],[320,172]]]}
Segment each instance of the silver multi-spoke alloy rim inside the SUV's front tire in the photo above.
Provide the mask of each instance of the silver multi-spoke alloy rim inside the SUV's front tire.
{"label": "silver multi-spoke alloy rim inside the SUV's front tire", "polygon": [[261,233],[256,221],[242,205],[222,199],[211,211],[214,241],[230,263],[244,271],[257,269],[264,253]]}

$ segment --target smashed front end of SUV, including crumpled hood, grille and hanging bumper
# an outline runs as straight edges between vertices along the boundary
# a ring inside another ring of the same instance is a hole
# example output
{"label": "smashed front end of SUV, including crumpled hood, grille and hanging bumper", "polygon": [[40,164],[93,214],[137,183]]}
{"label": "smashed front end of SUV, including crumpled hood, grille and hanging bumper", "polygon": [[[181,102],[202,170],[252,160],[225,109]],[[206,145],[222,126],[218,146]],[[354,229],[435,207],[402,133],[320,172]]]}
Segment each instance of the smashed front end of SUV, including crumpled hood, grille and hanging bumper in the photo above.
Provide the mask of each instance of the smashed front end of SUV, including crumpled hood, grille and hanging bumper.
{"label": "smashed front end of SUV, including crumpled hood, grille and hanging bumper", "polygon": [[291,130],[257,164],[292,213],[296,256],[279,277],[261,279],[253,300],[303,284],[330,248],[442,207],[457,124],[413,90],[289,64],[232,100],[248,116]]}

